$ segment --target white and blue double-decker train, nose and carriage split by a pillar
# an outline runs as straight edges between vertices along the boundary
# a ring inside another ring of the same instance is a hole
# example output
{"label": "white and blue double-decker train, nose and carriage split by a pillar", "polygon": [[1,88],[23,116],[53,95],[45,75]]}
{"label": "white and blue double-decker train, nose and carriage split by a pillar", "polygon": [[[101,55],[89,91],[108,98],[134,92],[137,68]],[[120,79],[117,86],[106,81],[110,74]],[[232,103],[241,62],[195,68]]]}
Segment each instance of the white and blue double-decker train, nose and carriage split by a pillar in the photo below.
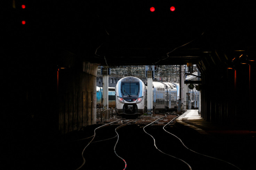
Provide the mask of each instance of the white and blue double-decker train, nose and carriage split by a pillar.
{"label": "white and blue double-decker train, nose and carriage split by a pillar", "polygon": [[[177,85],[153,82],[153,111],[177,109]],[[120,79],[115,87],[115,95],[118,114],[141,115],[147,111],[147,86],[141,79],[136,77]]]}

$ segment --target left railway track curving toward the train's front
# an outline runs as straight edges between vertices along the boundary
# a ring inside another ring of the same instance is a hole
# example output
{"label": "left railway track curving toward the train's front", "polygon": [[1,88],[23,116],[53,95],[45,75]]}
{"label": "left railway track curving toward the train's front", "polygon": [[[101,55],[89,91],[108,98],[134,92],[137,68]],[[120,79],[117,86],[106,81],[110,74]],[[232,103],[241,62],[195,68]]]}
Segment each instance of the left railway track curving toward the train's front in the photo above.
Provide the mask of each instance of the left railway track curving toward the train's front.
{"label": "left railway track curving toward the train's front", "polygon": [[[119,156],[116,152],[116,145],[119,142],[119,134],[117,130],[136,120],[137,119],[123,122],[123,119],[119,119],[117,121],[113,121],[97,127],[94,130],[94,135],[92,136],[91,141],[85,146],[82,151],[83,163],[80,165],[79,168],[77,168],[77,170],[114,169],[113,166],[118,167],[117,169],[120,169],[123,166],[123,169],[126,169],[126,161],[121,158],[121,156]],[[122,122],[123,124],[113,125],[113,123],[116,122]],[[102,128],[104,128],[103,131],[101,131]],[[107,135],[105,134],[106,132]],[[115,140],[116,142],[114,142]],[[114,156],[114,154],[116,156]],[[115,163],[113,164],[113,162]]]}

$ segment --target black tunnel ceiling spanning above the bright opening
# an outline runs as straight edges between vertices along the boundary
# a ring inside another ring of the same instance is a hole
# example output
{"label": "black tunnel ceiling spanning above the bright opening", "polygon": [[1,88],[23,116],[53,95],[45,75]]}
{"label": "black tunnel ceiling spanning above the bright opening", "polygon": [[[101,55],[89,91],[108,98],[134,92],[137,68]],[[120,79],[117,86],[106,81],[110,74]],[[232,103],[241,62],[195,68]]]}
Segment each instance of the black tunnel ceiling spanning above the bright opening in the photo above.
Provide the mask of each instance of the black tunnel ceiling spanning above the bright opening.
{"label": "black tunnel ceiling spanning above the bright opening", "polygon": [[[215,50],[255,46],[252,2],[39,3],[31,3],[32,22],[19,32],[19,37],[26,35],[26,41],[16,43],[27,49],[66,50],[99,65],[182,65],[197,63]],[[149,10],[152,6],[154,12]],[[17,11],[10,13],[10,17],[18,15]]]}

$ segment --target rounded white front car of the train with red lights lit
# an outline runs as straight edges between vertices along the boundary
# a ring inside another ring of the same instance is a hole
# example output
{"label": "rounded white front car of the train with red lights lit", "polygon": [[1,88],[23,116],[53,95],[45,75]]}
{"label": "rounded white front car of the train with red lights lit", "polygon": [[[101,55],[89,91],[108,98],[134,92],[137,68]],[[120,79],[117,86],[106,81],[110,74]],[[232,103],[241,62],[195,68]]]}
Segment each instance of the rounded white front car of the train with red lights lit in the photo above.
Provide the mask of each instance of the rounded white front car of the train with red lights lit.
{"label": "rounded white front car of the train with red lights lit", "polygon": [[145,113],[146,87],[137,77],[121,78],[115,87],[116,112],[120,115]]}

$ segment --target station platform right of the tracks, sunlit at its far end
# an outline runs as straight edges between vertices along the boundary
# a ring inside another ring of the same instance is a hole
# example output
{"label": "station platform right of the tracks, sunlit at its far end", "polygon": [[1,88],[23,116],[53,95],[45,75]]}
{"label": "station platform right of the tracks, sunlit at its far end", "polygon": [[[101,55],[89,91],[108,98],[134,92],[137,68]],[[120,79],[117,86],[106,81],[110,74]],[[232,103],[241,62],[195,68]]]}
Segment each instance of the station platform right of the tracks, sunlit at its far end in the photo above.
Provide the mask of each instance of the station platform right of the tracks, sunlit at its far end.
{"label": "station platform right of the tracks, sunlit at its far end", "polygon": [[[245,119],[245,121],[249,120]],[[184,136],[189,136],[188,139],[183,136],[184,143],[192,150],[206,153],[239,167],[229,167],[229,169],[253,170],[256,130],[246,127],[246,122],[240,123],[232,126],[219,125],[201,118],[198,110],[186,110],[176,119],[175,126],[183,129]]]}

